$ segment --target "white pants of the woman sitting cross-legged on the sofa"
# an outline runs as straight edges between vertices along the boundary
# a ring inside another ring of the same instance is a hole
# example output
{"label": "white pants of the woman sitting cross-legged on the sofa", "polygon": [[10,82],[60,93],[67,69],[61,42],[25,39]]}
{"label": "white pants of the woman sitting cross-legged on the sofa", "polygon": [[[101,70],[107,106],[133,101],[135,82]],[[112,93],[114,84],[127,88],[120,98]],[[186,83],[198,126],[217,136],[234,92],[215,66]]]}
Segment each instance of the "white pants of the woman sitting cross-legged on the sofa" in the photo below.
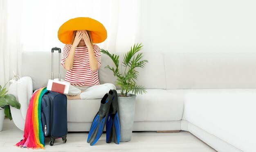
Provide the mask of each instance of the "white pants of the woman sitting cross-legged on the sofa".
{"label": "white pants of the woman sitting cross-legged on the sofa", "polygon": [[[58,78],[54,80],[58,80]],[[64,80],[61,79],[61,81]],[[103,96],[108,93],[110,89],[116,89],[115,85],[113,85],[112,83],[104,83],[102,85],[79,87],[70,84],[70,89],[68,90],[68,93],[66,95],[77,96],[80,94],[81,99],[97,99],[103,98]],[[83,90],[82,93],[81,90]]]}

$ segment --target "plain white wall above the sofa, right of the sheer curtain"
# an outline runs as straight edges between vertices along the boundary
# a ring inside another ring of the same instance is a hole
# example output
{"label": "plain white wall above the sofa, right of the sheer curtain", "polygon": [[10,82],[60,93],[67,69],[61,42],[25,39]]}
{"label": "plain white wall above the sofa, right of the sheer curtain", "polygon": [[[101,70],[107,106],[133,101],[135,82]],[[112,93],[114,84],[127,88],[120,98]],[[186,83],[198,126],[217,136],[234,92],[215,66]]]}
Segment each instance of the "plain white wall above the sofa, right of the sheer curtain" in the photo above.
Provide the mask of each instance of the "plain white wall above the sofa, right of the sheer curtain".
{"label": "plain white wall above the sofa, right of the sheer curtain", "polygon": [[142,0],[146,51],[256,52],[255,0]]}

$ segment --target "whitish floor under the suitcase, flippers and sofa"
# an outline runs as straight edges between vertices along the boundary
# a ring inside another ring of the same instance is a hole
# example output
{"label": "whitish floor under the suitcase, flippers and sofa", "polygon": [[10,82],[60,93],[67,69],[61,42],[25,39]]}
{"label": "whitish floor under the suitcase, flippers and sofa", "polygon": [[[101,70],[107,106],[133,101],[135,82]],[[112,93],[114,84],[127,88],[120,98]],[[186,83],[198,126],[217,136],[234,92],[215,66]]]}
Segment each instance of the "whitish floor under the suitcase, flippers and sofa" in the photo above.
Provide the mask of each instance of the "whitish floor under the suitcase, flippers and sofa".
{"label": "whitish floor under the suitcase, flippers and sofa", "polygon": [[96,152],[126,151],[126,152],[216,152],[189,132],[157,133],[157,132],[133,132],[132,140],[116,145],[106,143],[106,133],[103,133],[99,141],[90,146],[87,142],[88,132],[69,132],[67,143],[56,139],[53,146],[49,146],[49,138],[45,139],[45,150],[31,150],[13,146],[22,139],[23,131],[19,130],[13,121],[4,120],[2,132],[0,132],[0,152]]}

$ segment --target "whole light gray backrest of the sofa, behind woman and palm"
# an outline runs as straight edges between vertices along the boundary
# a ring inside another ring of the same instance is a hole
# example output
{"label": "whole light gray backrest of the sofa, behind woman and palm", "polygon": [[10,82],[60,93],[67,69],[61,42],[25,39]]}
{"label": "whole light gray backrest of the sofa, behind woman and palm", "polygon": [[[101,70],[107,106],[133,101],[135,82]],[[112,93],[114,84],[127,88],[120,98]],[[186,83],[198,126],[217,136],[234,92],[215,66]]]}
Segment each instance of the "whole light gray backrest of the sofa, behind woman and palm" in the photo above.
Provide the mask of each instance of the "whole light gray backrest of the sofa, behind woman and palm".
{"label": "whole light gray backrest of the sofa, behind woman and palm", "polygon": [[[124,52],[119,55],[121,65]],[[223,52],[143,52],[148,60],[138,68],[138,85],[147,89],[217,89],[256,88],[256,53]],[[54,53],[54,78],[58,78],[58,53]],[[51,52],[22,52],[22,74],[33,80],[33,89],[47,86],[51,79]],[[100,84],[113,83],[116,78],[107,65],[115,67],[105,54],[101,55]],[[119,69],[121,70],[121,69]],[[61,66],[61,78],[66,71]],[[120,89],[117,86],[117,89]]]}

